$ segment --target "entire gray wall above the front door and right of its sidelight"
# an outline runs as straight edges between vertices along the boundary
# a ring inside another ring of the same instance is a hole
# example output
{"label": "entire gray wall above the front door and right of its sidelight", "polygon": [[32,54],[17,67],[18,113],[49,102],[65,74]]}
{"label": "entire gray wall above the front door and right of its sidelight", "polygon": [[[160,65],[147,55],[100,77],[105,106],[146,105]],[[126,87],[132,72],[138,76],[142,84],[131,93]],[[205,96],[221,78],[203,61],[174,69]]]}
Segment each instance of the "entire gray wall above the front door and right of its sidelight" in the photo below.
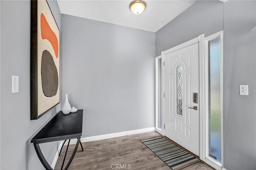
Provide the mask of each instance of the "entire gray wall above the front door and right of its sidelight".
{"label": "entire gray wall above the front door and right of its sidelight", "polygon": [[[198,1],[156,32],[161,51],[224,30],[224,168],[256,169],[255,1]],[[249,96],[238,85],[249,85]]]}

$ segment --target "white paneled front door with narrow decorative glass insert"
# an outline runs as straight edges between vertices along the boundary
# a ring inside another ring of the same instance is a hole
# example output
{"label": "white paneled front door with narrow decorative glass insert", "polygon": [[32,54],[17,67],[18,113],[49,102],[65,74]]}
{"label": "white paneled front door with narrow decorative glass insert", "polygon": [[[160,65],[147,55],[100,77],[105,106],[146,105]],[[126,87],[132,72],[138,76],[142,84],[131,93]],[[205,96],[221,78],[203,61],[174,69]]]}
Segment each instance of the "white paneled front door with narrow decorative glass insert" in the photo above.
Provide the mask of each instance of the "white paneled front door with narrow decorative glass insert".
{"label": "white paneled front door with narrow decorative glass insert", "polygon": [[164,53],[164,63],[165,136],[199,156],[199,43]]}

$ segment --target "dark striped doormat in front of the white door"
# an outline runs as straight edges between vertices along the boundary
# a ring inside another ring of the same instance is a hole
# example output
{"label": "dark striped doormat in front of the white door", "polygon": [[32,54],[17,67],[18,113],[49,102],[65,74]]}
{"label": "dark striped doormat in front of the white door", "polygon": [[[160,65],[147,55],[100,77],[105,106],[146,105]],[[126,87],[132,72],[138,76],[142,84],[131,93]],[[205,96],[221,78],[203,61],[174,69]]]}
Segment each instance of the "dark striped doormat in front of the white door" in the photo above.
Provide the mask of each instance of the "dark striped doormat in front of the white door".
{"label": "dark striped doormat in front of the white door", "polygon": [[200,162],[198,158],[163,137],[142,140],[141,142],[172,170],[180,170]]}

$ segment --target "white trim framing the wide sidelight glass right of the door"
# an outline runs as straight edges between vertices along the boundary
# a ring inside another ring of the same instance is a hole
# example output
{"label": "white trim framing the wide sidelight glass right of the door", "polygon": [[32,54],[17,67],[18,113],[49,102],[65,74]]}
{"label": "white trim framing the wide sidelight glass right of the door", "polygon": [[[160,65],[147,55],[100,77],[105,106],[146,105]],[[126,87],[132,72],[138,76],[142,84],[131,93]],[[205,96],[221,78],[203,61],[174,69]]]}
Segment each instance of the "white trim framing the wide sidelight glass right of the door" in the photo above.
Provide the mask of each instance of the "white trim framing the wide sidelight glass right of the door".
{"label": "white trim framing the wide sidelight glass right of the door", "polygon": [[[208,75],[208,62],[209,62],[209,56],[208,56],[208,42],[212,39],[215,39],[217,37],[220,37],[220,92],[221,92],[221,162],[218,162],[217,160],[211,158],[209,156],[209,75]],[[212,34],[208,37],[204,38],[204,67],[205,67],[205,108],[204,108],[204,123],[203,123],[203,158],[202,160],[212,166],[213,168],[217,170],[222,170],[223,168],[223,162],[224,162],[224,154],[223,154],[223,31],[220,31],[218,33]],[[201,157],[200,157],[201,159]]]}

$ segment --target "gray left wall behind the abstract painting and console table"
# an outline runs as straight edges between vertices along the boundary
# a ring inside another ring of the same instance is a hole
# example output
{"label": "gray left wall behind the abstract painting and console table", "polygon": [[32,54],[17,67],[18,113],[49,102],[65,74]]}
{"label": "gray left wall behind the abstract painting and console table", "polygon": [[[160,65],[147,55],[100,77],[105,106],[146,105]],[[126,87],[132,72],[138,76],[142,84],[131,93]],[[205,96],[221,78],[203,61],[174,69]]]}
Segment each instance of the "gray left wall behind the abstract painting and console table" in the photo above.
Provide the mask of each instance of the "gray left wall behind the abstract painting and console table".
{"label": "gray left wall behind the abstract painting and console table", "polygon": [[[41,169],[30,140],[60,110],[60,105],[38,120],[30,120],[30,1],[1,3],[1,169]],[[60,10],[49,2],[60,27]],[[12,75],[19,76],[19,93],[12,94]],[[57,142],[40,144],[52,163]]]}

